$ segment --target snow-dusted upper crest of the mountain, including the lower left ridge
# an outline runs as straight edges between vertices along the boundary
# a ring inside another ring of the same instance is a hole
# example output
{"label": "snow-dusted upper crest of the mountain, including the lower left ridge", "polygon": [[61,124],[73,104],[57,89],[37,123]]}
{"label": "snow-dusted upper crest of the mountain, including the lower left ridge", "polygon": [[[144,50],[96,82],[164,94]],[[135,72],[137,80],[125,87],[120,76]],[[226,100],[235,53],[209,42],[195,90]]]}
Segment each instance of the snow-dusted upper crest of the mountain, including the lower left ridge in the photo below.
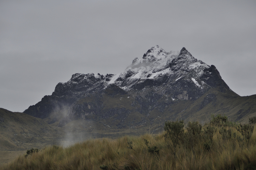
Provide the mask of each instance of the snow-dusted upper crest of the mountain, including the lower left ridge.
{"label": "snow-dusted upper crest of the mountain, including the lower left ridge", "polygon": [[[105,76],[76,73],[67,83],[59,84],[57,89],[68,89],[76,86],[78,91],[95,91],[97,88],[106,88],[115,84],[125,91],[143,89],[146,86],[160,86],[160,84],[182,81],[185,79],[199,88],[203,88],[205,80],[200,80],[205,70],[210,68],[201,60],[194,58],[184,47],[179,51],[166,52],[158,45],[149,49],[142,58],[135,58],[131,65],[120,74]],[[207,72],[208,77],[211,71]],[[59,88],[62,87],[62,88]],[[61,90],[61,91],[63,91]],[[58,90],[57,90],[58,91]]]}

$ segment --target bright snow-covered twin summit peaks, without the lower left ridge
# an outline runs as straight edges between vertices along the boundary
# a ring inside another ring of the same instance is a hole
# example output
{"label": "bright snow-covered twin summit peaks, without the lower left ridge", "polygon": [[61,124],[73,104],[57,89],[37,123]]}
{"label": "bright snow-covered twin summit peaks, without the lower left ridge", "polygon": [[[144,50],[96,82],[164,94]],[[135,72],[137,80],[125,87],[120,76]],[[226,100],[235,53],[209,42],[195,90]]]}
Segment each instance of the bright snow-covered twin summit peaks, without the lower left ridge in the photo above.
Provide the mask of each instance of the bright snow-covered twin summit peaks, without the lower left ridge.
{"label": "bright snow-covered twin summit peaks, without the lower left ridge", "polygon": [[155,79],[166,74],[171,75],[177,70],[171,70],[170,63],[177,57],[179,60],[175,65],[179,65],[177,68],[179,71],[183,70],[182,74],[193,69],[196,73],[199,73],[197,76],[200,76],[200,72],[202,73],[203,71],[202,69],[209,68],[207,64],[194,58],[185,48],[182,48],[180,52],[166,52],[158,45],[155,45],[149,49],[142,58],[136,57],[123,73],[113,76],[108,84],[114,83],[128,90],[134,83],[140,80]]}

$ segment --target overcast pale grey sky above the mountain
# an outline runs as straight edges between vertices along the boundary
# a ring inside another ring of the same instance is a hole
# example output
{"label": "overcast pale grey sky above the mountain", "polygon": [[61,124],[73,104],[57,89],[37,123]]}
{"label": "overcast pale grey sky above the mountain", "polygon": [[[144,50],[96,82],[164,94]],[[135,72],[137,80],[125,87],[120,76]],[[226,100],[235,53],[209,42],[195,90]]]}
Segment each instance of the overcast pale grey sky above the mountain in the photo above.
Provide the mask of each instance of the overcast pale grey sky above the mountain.
{"label": "overcast pale grey sky above the mountain", "polygon": [[23,112],[75,73],[118,74],[154,45],[256,94],[255,0],[1,0],[0,107]]}

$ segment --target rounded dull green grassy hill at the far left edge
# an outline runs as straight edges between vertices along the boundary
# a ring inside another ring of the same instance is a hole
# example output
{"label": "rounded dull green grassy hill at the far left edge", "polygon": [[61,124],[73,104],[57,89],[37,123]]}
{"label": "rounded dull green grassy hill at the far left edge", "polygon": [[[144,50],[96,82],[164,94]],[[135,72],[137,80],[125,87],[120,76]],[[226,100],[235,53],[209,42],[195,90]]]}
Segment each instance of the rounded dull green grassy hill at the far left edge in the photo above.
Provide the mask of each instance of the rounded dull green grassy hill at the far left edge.
{"label": "rounded dull green grassy hill at the far left edge", "polygon": [[0,151],[54,144],[59,133],[42,119],[0,108]]}

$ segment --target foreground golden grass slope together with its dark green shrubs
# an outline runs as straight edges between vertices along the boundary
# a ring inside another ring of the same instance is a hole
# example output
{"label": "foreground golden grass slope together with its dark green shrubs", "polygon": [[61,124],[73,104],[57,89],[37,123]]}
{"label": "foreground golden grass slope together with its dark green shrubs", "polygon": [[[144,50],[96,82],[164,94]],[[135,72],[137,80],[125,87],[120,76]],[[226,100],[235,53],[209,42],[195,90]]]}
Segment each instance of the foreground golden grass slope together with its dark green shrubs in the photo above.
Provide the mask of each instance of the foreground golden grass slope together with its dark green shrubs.
{"label": "foreground golden grass slope together with its dark green shrubs", "polygon": [[238,125],[221,115],[204,126],[167,121],[162,134],[30,149],[0,169],[251,170],[256,169],[256,118],[249,122]]}

